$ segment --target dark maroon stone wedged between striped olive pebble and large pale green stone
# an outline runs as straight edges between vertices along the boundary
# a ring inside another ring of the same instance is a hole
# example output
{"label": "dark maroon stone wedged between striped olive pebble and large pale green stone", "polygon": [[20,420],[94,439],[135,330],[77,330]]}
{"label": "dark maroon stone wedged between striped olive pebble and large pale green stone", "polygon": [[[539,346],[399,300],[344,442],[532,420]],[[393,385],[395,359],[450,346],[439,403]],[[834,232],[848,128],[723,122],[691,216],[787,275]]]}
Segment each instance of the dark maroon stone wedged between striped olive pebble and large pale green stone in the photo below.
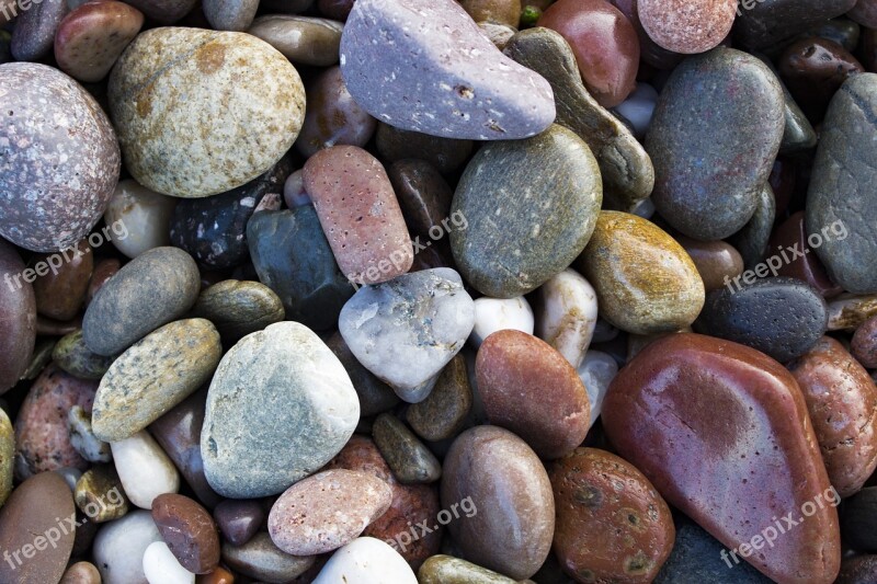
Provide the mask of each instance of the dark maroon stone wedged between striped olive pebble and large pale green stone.
{"label": "dark maroon stone wedged between striped olive pebble and large pale green stone", "polygon": [[198,501],[214,507],[221,497],[207,483],[204,458],[201,456],[201,428],[204,424],[206,401],[205,387],[152,422],[149,431],[168,458],[173,460]]}

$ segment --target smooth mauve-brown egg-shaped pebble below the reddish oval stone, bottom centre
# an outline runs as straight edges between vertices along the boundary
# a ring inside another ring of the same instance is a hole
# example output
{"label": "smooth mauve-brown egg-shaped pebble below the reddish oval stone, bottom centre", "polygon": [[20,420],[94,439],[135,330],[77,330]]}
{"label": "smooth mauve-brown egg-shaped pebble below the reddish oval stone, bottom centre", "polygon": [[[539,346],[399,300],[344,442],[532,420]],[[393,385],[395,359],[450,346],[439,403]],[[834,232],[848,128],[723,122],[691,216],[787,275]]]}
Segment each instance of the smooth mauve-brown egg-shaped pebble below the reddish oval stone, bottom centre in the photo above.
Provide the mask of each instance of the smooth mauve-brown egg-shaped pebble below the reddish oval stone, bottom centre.
{"label": "smooth mauve-brown egg-shaped pebble below the reddish oval stone, bottom centre", "polygon": [[468,500],[477,509],[448,524],[465,558],[515,580],[535,574],[555,530],[551,484],[536,454],[508,430],[477,426],[457,436],[443,470],[443,507]]}

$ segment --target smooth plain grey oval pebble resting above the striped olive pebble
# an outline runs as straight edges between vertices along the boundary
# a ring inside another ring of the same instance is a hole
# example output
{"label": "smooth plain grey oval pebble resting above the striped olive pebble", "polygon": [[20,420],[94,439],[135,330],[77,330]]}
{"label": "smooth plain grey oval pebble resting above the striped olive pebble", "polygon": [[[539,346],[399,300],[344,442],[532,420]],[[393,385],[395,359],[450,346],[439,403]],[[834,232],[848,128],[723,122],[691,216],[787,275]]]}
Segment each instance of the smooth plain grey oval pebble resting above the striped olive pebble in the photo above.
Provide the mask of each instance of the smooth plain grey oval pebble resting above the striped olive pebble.
{"label": "smooth plain grey oval pebble resting above the striped olive pebble", "polygon": [[192,308],[201,275],[192,256],[155,248],[125,264],[92,299],[82,319],[86,346],[116,355]]}

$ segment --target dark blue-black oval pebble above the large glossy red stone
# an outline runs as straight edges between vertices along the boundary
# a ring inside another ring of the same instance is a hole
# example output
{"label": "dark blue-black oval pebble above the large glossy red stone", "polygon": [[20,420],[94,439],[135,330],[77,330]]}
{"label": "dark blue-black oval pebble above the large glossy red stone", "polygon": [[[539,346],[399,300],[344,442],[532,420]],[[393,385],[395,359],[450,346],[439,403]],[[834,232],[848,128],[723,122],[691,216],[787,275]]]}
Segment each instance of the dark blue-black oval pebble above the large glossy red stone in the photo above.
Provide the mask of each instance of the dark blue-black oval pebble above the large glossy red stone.
{"label": "dark blue-black oval pebble above the large glossy red stone", "polygon": [[785,363],[807,353],[825,333],[827,310],[822,296],[801,280],[768,277],[709,293],[693,327]]}

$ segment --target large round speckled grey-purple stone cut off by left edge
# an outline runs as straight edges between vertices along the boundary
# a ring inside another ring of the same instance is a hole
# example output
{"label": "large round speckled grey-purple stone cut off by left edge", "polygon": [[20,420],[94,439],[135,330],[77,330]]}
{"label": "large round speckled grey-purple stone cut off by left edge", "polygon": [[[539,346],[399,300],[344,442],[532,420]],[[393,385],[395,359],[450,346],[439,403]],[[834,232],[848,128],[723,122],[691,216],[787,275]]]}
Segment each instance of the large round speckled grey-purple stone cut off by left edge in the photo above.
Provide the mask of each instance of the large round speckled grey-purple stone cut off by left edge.
{"label": "large round speckled grey-purple stone cut off by left edge", "polygon": [[110,118],[81,85],[45,65],[4,64],[0,84],[11,112],[0,133],[0,236],[39,252],[75,245],[100,220],[118,181]]}

